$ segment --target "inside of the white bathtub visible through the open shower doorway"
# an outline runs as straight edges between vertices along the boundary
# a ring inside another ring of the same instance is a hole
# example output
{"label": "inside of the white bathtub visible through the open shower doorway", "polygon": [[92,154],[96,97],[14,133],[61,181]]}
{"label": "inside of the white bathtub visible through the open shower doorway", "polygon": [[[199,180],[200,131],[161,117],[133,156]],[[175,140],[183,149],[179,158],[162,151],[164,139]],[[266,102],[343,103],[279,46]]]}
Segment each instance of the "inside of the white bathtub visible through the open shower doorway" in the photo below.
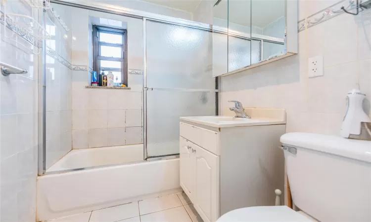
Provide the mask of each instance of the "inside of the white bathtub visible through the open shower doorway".
{"label": "inside of the white bathtub visible through the open shower doorway", "polygon": [[112,165],[143,160],[143,144],[73,149],[46,172]]}

